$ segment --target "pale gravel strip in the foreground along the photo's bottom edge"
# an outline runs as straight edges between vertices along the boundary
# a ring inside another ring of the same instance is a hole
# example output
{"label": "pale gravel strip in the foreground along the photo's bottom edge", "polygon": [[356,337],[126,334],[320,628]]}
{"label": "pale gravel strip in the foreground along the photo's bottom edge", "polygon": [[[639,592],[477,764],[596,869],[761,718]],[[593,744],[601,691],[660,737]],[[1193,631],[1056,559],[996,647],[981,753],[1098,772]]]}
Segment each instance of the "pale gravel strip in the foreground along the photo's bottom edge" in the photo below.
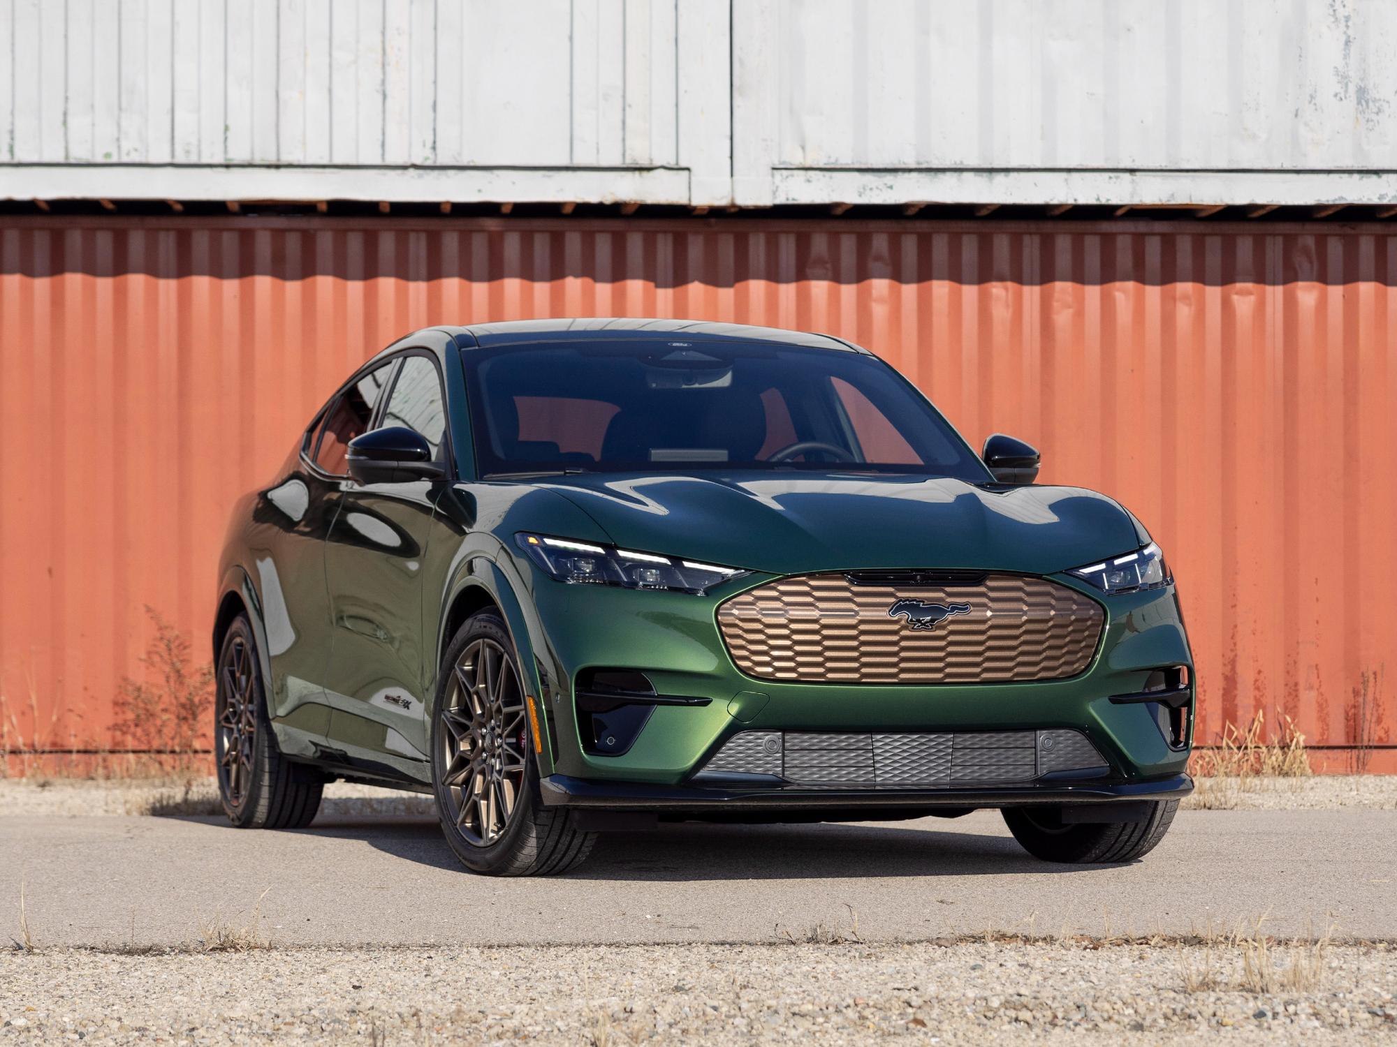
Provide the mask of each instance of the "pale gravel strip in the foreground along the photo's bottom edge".
{"label": "pale gravel strip in the foreground along the photo's bottom edge", "polygon": [[1319,984],[1245,988],[1245,944],[1087,940],[7,952],[0,1044],[1397,1043],[1397,952],[1270,953]]}

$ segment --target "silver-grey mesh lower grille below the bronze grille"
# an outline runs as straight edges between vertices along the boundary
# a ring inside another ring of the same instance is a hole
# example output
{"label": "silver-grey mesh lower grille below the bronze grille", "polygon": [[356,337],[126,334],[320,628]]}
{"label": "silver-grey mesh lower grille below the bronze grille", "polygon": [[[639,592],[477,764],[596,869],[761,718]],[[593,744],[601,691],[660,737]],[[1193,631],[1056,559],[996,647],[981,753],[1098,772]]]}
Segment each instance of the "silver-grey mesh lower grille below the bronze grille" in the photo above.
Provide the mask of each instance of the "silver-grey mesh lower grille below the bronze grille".
{"label": "silver-grey mesh lower grille below the bronze grille", "polygon": [[704,766],[774,775],[806,789],[968,789],[1023,785],[1060,772],[1106,773],[1105,758],[1077,730],[863,734],[745,730]]}

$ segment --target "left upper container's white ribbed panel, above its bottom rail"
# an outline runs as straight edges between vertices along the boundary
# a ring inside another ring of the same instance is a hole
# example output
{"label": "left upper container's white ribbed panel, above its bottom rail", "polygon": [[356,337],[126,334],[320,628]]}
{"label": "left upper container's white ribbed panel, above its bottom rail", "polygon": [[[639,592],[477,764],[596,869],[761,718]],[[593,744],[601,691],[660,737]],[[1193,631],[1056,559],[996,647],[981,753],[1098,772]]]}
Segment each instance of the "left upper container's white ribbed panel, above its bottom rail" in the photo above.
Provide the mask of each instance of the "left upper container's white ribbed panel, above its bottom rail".
{"label": "left upper container's white ribbed panel, above its bottom rail", "polygon": [[721,0],[0,0],[0,119],[18,163],[673,165],[682,18],[726,99]]}

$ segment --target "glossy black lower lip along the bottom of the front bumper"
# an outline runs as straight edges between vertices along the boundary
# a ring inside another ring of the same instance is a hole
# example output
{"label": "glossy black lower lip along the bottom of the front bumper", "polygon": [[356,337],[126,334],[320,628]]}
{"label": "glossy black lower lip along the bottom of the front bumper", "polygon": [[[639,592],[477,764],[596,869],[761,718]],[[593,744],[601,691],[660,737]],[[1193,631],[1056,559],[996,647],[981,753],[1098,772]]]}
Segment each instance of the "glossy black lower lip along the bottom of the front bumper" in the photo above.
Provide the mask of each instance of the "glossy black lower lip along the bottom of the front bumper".
{"label": "glossy black lower lip along the bottom of the front bumper", "polygon": [[915,817],[916,811],[979,807],[1025,807],[1062,804],[1139,803],[1141,800],[1180,800],[1193,792],[1193,779],[1175,775],[1157,782],[1123,785],[1049,785],[1028,787],[936,789],[936,790],[806,790],[657,786],[634,782],[601,782],[569,775],[541,779],[541,796],[549,807],[584,810],[637,811],[659,814],[724,815],[754,814],[781,821],[781,812],[826,814],[826,821],[877,821],[879,812],[891,818]]}

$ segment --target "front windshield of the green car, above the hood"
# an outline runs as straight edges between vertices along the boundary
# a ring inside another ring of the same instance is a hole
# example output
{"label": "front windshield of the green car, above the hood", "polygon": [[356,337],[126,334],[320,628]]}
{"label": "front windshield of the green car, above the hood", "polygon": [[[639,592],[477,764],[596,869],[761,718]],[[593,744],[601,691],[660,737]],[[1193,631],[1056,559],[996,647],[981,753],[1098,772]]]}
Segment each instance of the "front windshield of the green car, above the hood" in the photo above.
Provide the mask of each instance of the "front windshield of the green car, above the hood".
{"label": "front windshield of the green car, above the hood", "polygon": [[855,469],[989,472],[897,371],[760,342],[531,342],[464,355],[481,476]]}

